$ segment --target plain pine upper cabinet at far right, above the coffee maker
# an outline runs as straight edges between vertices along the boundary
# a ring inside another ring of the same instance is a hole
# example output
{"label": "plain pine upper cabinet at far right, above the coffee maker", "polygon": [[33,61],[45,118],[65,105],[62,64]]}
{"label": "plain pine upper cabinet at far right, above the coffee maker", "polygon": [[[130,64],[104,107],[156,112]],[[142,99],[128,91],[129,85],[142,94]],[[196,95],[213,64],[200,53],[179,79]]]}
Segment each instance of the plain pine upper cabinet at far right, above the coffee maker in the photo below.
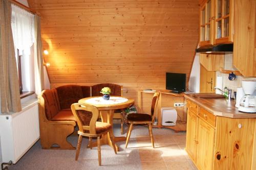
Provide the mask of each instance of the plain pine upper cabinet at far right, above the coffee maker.
{"label": "plain pine upper cabinet at far right, above the coffee maker", "polygon": [[233,65],[245,77],[256,77],[256,0],[236,0]]}

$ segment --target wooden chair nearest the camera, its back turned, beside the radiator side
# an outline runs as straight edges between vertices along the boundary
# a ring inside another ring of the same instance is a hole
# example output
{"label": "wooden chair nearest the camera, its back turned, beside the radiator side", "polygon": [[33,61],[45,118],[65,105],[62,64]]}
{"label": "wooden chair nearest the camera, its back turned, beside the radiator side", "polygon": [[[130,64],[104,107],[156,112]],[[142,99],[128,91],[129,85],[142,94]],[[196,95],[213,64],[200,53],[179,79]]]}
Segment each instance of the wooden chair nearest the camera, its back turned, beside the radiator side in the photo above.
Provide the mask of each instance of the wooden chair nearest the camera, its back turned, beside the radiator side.
{"label": "wooden chair nearest the camera, its back turned, beside the radiator side", "polygon": [[[82,136],[88,136],[90,142],[90,148],[92,149],[92,137],[97,137],[97,146],[98,146],[98,161],[99,165],[101,165],[101,152],[100,152],[100,136],[105,133],[109,133],[112,129],[112,125],[109,123],[97,122],[99,116],[99,110],[95,106],[86,105],[86,104],[78,104],[74,103],[71,105],[71,110],[77,120],[77,125],[79,128],[78,134],[78,142],[76,148],[76,158],[78,159]],[[114,136],[109,133],[111,142],[113,145],[113,149],[116,154],[116,147],[114,142]]]}

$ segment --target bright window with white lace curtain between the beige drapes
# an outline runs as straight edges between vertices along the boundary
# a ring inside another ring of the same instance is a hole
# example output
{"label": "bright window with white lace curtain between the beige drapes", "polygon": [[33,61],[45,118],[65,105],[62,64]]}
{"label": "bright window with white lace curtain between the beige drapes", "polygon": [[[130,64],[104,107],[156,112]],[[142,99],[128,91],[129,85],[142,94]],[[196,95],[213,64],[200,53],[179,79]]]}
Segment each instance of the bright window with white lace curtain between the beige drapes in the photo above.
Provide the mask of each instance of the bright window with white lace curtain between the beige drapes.
{"label": "bright window with white lace curtain between the beige drapes", "polygon": [[11,26],[16,49],[20,94],[35,91],[34,15],[12,4]]}

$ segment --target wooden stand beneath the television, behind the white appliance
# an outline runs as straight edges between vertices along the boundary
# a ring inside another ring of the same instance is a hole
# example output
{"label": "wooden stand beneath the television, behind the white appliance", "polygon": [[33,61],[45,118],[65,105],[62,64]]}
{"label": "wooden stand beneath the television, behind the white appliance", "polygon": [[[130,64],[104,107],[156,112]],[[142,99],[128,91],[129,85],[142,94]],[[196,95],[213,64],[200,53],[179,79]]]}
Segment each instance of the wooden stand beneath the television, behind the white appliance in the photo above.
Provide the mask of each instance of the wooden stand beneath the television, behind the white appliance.
{"label": "wooden stand beneath the television, behind the white appliance", "polygon": [[[177,93],[169,90],[157,90],[160,93],[157,109],[157,125],[153,127],[173,129],[175,132],[186,131],[186,106],[174,107],[174,103],[185,103],[184,93]],[[155,92],[138,91],[139,113],[149,113],[152,97]],[[174,107],[177,110],[178,118],[175,126],[162,126],[162,107]]]}

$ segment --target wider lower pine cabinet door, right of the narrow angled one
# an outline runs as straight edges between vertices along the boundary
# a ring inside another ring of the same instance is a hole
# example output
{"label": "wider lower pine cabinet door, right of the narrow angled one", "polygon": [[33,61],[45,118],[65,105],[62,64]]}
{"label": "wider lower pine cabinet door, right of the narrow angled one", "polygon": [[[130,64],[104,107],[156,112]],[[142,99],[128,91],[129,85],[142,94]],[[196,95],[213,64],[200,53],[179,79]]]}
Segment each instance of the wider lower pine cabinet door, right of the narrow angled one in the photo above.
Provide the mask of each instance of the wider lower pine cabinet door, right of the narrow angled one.
{"label": "wider lower pine cabinet door, right of the narrow angled one", "polygon": [[197,166],[199,169],[212,169],[214,159],[215,129],[199,118],[197,134]]}

